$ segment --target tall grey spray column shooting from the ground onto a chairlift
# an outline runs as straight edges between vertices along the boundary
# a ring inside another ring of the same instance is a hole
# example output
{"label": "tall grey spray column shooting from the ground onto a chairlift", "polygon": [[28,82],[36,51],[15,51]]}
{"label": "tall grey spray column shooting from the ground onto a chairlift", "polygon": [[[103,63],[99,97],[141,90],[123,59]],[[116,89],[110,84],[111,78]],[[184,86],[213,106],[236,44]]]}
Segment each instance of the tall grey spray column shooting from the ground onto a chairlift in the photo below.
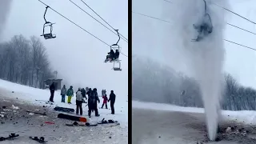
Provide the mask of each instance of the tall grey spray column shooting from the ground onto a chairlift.
{"label": "tall grey spray column shooting from the ground onto a chairlift", "polygon": [[[206,12],[210,15],[213,31],[201,41],[191,42],[198,37],[194,24],[200,22]],[[176,0],[172,6],[173,27],[171,33],[176,49],[182,51],[190,72],[201,89],[205,107],[206,124],[210,140],[215,140],[218,129],[220,99],[222,96],[222,66],[224,61],[223,33],[228,8],[223,0]]]}

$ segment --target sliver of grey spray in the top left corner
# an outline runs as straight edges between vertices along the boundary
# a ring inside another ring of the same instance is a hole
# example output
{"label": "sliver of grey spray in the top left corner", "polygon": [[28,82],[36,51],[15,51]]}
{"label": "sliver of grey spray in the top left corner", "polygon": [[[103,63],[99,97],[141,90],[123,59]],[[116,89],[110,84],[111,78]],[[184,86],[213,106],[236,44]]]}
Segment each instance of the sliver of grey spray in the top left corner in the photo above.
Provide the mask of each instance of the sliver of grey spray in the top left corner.
{"label": "sliver of grey spray in the top left corner", "polygon": [[2,35],[2,30],[4,30],[4,26],[6,24],[6,19],[10,12],[10,4],[12,0],[1,0],[0,1],[0,38]]}

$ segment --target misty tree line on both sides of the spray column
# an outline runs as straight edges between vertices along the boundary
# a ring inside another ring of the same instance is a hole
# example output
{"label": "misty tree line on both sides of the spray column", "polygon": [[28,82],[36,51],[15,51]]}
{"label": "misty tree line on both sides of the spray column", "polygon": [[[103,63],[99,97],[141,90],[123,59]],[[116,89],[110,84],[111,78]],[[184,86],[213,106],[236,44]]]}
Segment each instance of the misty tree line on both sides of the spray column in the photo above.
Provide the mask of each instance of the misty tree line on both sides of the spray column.
{"label": "misty tree line on both sides of the spray column", "polygon": [[[200,88],[194,78],[161,66],[149,58],[134,58],[132,69],[134,100],[203,107]],[[240,85],[225,74],[222,110],[256,110],[256,90]]]}

